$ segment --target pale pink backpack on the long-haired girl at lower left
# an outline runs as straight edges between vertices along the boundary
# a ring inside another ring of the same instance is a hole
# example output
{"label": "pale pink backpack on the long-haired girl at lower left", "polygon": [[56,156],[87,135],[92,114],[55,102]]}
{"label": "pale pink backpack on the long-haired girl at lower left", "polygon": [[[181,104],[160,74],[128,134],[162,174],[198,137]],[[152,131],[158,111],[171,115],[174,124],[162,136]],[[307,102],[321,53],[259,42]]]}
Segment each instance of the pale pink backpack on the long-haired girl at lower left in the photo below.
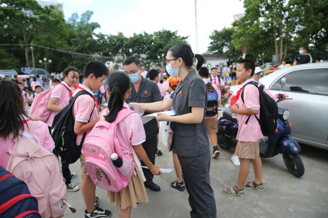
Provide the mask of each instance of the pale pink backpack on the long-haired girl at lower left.
{"label": "pale pink backpack on the long-haired girl at lower left", "polygon": [[57,157],[36,142],[32,136],[37,121],[29,121],[10,154],[7,170],[23,180],[31,194],[38,200],[42,218],[57,217],[66,210],[63,200],[67,200],[66,185]]}

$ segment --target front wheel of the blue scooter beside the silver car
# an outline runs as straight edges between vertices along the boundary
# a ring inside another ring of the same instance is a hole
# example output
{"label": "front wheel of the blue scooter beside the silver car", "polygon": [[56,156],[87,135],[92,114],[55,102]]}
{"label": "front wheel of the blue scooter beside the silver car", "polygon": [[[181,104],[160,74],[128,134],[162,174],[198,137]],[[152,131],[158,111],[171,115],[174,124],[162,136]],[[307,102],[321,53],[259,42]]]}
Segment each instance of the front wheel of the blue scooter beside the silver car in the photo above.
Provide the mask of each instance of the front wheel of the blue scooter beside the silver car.
{"label": "front wheel of the blue scooter beside the silver car", "polygon": [[305,169],[299,154],[287,154],[284,152],[282,153],[282,158],[284,159],[288,171],[293,174],[293,176],[303,176]]}

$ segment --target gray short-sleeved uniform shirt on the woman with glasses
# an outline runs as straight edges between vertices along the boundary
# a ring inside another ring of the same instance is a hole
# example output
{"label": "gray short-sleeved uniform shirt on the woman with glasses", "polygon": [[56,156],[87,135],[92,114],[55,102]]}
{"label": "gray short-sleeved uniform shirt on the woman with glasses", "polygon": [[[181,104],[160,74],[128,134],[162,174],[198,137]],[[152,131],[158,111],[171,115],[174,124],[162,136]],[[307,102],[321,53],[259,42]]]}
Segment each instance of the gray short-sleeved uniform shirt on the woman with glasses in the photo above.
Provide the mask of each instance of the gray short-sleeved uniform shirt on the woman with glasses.
{"label": "gray short-sleeved uniform shirt on the woman with glasses", "polygon": [[[191,107],[206,108],[207,89],[203,79],[193,70],[181,81],[171,95],[176,115],[191,113]],[[171,150],[180,156],[195,157],[210,150],[210,142],[203,121],[199,124],[175,123]]]}

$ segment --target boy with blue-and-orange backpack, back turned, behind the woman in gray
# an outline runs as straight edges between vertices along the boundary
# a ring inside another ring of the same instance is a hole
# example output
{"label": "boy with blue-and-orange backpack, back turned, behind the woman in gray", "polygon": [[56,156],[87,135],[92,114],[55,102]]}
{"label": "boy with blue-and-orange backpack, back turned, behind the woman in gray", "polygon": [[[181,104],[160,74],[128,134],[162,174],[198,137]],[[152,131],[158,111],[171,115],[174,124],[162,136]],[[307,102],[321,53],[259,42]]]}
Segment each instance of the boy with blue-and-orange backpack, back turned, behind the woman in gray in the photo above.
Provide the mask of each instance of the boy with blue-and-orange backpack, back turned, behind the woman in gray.
{"label": "boy with blue-and-orange backpack, back turned, behind the woman in gray", "polygon": [[[212,68],[213,69],[213,68]],[[216,68],[214,68],[215,71]],[[214,70],[213,70],[214,71]],[[210,82],[209,79],[209,70],[207,67],[201,67],[198,70],[198,75],[200,75],[200,77],[202,77],[202,79],[204,80],[205,84]],[[212,83],[212,87],[215,89],[215,92],[218,93],[219,97],[220,97],[220,93],[218,87]],[[219,99],[219,98],[218,98]],[[219,105],[219,100],[217,101],[217,104]],[[218,126],[217,126],[217,117],[215,116],[205,116],[205,124],[206,124],[206,130],[208,133],[208,136],[210,138],[210,141],[213,145],[213,155],[212,158],[218,158],[220,155],[220,150],[219,150],[219,146],[217,144],[217,132],[218,132]]]}

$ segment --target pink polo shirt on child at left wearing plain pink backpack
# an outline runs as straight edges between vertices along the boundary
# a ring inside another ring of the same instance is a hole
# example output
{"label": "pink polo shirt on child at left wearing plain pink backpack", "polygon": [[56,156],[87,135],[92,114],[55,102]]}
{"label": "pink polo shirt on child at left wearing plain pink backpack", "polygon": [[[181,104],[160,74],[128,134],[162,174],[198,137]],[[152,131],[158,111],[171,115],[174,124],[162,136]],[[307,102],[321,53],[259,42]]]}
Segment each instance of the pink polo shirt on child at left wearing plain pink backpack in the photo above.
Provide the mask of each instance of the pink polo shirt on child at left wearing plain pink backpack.
{"label": "pink polo shirt on child at left wearing plain pink backpack", "polygon": [[[68,89],[71,89],[66,82],[62,81],[61,83],[63,83]],[[50,97],[58,98],[59,100],[57,101],[56,105],[60,107],[65,107],[70,101],[70,92],[63,85],[58,85],[52,88]],[[53,118],[56,116],[57,113],[58,112],[56,111],[51,111],[50,116],[46,122],[48,126],[52,126]]]}

